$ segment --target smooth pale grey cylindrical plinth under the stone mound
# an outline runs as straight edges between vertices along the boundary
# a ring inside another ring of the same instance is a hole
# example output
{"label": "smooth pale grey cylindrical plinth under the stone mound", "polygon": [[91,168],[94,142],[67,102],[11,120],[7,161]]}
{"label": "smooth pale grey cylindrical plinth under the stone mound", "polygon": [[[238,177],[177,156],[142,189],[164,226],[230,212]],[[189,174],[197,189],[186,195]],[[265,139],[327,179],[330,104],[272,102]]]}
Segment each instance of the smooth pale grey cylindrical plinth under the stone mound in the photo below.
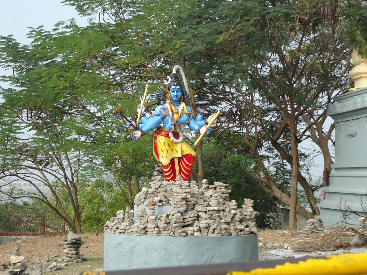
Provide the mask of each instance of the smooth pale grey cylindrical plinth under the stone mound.
{"label": "smooth pale grey cylindrical plinth under the stone mound", "polygon": [[135,236],[105,233],[104,270],[258,260],[258,236]]}

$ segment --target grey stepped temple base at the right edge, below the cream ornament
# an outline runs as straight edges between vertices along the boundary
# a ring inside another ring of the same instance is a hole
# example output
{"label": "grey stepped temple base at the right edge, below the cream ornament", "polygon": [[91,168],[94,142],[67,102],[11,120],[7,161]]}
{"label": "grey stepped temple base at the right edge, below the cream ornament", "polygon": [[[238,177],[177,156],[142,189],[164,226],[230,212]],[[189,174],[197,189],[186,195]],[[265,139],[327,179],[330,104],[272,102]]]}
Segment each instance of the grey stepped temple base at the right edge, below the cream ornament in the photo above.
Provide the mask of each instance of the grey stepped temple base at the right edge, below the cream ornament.
{"label": "grey stepped temple base at the right edge, below the cream ornament", "polygon": [[323,187],[319,218],[325,226],[359,226],[357,214],[367,215],[367,88],[334,100],[328,115],[335,122],[335,172]]}

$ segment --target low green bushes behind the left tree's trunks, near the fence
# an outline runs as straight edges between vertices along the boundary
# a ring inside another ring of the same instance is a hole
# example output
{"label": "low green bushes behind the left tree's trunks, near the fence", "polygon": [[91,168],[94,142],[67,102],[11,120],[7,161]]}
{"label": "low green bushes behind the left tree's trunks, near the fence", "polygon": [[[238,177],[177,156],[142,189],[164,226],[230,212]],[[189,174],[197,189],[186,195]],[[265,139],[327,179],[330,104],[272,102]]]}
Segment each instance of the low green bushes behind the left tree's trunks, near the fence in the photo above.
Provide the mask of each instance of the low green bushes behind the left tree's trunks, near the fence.
{"label": "low green bushes behind the left tree's trunks, near the fence", "polygon": [[[83,212],[81,227],[83,232],[102,232],[106,220],[116,215],[117,210],[125,209],[121,204],[119,190],[110,182],[99,178],[89,182],[86,178],[80,181],[78,199]],[[72,203],[68,192],[60,188],[58,198],[69,216],[75,220]],[[11,223],[12,228],[35,227],[39,232],[41,218],[45,220],[47,232],[68,232],[70,227],[59,215],[39,199],[0,203],[0,230]]]}

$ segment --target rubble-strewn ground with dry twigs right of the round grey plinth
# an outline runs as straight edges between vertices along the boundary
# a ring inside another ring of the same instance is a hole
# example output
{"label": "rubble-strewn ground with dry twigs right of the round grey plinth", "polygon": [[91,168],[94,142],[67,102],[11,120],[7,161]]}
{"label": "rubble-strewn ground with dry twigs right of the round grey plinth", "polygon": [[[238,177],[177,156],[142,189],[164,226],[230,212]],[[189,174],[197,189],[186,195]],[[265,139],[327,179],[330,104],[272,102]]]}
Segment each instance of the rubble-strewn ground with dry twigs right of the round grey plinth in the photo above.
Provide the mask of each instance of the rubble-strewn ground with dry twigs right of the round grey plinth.
{"label": "rubble-strewn ground with dry twigs right of the round grey plinth", "polygon": [[366,218],[359,221],[357,228],[324,228],[320,219],[312,219],[302,231],[260,231],[259,260],[367,252]]}

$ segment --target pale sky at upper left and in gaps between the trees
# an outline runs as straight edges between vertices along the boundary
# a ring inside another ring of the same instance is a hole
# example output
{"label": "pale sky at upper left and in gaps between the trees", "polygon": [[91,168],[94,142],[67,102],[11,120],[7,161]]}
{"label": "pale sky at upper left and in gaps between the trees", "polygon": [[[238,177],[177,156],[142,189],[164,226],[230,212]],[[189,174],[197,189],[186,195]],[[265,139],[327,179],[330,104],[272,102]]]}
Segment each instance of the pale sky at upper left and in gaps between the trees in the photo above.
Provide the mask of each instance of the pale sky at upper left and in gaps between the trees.
{"label": "pale sky at upper left and in gaps between the trees", "polygon": [[[80,17],[73,7],[63,6],[58,0],[0,0],[0,35],[13,34],[21,44],[29,44],[26,39],[28,27],[36,28],[43,25],[45,30],[51,30],[59,21],[76,19],[79,26],[86,26],[88,17]],[[0,75],[11,74],[0,68]],[[8,87],[0,81],[0,86]],[[312,144],[306,145],[308,149]],[[333,149],[332,149],[333,150]],[[322,176],[322,158],[317,157],[312,172],[316,176]],[[317,167],[317,165],[319,167]]]}

